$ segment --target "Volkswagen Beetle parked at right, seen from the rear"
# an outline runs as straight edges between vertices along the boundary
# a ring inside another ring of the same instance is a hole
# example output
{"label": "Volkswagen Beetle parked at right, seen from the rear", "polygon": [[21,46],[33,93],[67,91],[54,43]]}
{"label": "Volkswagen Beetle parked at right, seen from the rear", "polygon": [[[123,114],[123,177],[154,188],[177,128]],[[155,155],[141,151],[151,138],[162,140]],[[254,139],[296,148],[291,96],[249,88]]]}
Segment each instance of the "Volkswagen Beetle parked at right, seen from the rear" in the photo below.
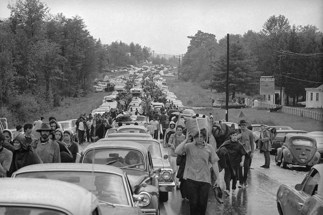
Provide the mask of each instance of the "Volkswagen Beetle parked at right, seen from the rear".
{"label": "Volkswagen Beetle parked at right, seen from the rear", "polygon": [[277,148],[275,163],[277,166],[283,164],[295,164],[312,167],[318,164],[321,155],[317,151],[316,140],[306,134],[286,134],[281,148]]}

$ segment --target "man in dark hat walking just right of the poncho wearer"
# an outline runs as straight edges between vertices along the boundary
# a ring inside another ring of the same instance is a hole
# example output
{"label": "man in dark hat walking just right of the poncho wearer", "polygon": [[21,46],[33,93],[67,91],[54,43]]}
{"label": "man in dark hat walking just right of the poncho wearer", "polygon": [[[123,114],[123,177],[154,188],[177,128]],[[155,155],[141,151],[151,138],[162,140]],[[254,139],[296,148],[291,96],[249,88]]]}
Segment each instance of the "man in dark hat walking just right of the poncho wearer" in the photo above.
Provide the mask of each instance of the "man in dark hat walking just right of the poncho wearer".
{"label": "man in dark hat walking just right of the poncho wearer", "polygon": [[[240,128],[238,131],[238,140],[242,143],[242,145],[245,147],[245,150],[247,152],[245,156],[245,161],[243,165],[244,171],[242,172],[242,167],[239,167],[239,186],[238,188],[242,188],[243,185],[245,187],[248,187],[248,171],[249,171],[249,160],[254,156],[255,151],[255,145],[254,143],[254,135],[251,130],[247,129],[247,121],[245,119],[241,119],[239,122]],[[248,156],[249,155],[249,156]]]}

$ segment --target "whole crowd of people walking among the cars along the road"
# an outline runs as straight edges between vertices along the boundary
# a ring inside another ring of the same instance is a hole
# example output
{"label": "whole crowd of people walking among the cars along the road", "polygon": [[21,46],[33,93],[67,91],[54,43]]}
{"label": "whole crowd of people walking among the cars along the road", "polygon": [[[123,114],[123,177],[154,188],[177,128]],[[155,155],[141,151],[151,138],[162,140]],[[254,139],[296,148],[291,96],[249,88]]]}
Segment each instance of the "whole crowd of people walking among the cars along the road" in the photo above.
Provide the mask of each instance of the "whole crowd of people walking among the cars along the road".
{"label": "whole crowd of people walking among the cars along the road", "polygon": [[[149,74],[145,77],[152,78]],[[76,121],[79,143],[71,131],[59,128],[55,117],[50,117],[49,123],[39,118],[34,124],[17,126],[14,135],[8,129],[0,132],[0,177],[10,177],[14,171],[27,165],[75,162],[78,144],[103,138],[105,132],[117,124],[116,118],[130,114],[149,118],[147,129],[167,148],[169,162],[177,173],[176,189],[180,189],[183,199],[189,200],[191,214],[205,214],[211,181],[213,179],[217,186],[220,185],[219,172],[222,169],[224,194],[230,195],[231,180],[232,195],[235,194],[237,181],[238,188],[248,187],[247,175],[255,151],[255,134],[247,121],[240,120],[240,128],[233,129],[221,124],[221,121],[214,121],[210,113],[208,120],[213,126],[212,135],[208,135],[205,129],[192,135],[181,115],[172,114],[171,110],[178,109],[178,106],[167,101],[160,88],[149,80],[142,82],[145,91],[145,96],[141,97],[142,112],[129,107],[131,98],[127,92],[132,86],[133,79],[129,79],[125,91],[116,98],[117,108],[111,108],[102,115],[80,114]],[[152,102],[163,103],[160,112],[153,109]],[[192,118],[199,117],[196,114]],[[119,122],[118,125],[123,124]],[[269,134],[264,128],[262,125],[260,142],[265,155],[262,167],[269,168]]]}

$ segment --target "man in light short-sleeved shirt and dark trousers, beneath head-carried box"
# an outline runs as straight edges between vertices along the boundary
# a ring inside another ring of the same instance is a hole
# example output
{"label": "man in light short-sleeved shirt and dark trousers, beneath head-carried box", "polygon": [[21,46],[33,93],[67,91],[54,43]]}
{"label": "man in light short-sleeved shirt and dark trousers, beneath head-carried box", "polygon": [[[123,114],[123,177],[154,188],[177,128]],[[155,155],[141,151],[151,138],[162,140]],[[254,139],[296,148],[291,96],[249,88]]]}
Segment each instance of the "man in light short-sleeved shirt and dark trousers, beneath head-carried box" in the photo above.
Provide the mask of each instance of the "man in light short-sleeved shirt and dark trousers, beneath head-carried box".
{"label": "man in light short-sleeved shirt and dark trousers, beneath head-carried box", "polygon": [[220,184],[218,160],[214,148],[205,142],[207,131],[202,129],[200,134],[194,137],[188,131],[185,140],[175,149],[175,154],[186,154],[186,165],[183,178],[187,181],[188,197],[190,200],[190,212],[192,215],[206,213],[209,190],[211,187],[210,165],[212,164],[215,184]]}

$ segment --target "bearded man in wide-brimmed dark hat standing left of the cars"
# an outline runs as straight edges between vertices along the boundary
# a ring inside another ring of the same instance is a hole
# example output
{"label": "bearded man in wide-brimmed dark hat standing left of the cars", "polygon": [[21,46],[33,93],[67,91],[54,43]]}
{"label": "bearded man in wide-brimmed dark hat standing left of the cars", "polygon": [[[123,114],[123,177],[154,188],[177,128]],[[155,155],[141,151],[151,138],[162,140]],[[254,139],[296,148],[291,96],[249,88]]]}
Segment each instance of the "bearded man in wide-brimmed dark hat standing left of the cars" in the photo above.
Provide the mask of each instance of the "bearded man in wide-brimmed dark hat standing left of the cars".
{"label": "bearded man in wide-brimmed dark hat standing left of the cars", "polygon": [[51,128],[48,123],[42,123],[39,132],[40,138],[31,142],[43,163],[60,163],[59,145],[49,138]]}

